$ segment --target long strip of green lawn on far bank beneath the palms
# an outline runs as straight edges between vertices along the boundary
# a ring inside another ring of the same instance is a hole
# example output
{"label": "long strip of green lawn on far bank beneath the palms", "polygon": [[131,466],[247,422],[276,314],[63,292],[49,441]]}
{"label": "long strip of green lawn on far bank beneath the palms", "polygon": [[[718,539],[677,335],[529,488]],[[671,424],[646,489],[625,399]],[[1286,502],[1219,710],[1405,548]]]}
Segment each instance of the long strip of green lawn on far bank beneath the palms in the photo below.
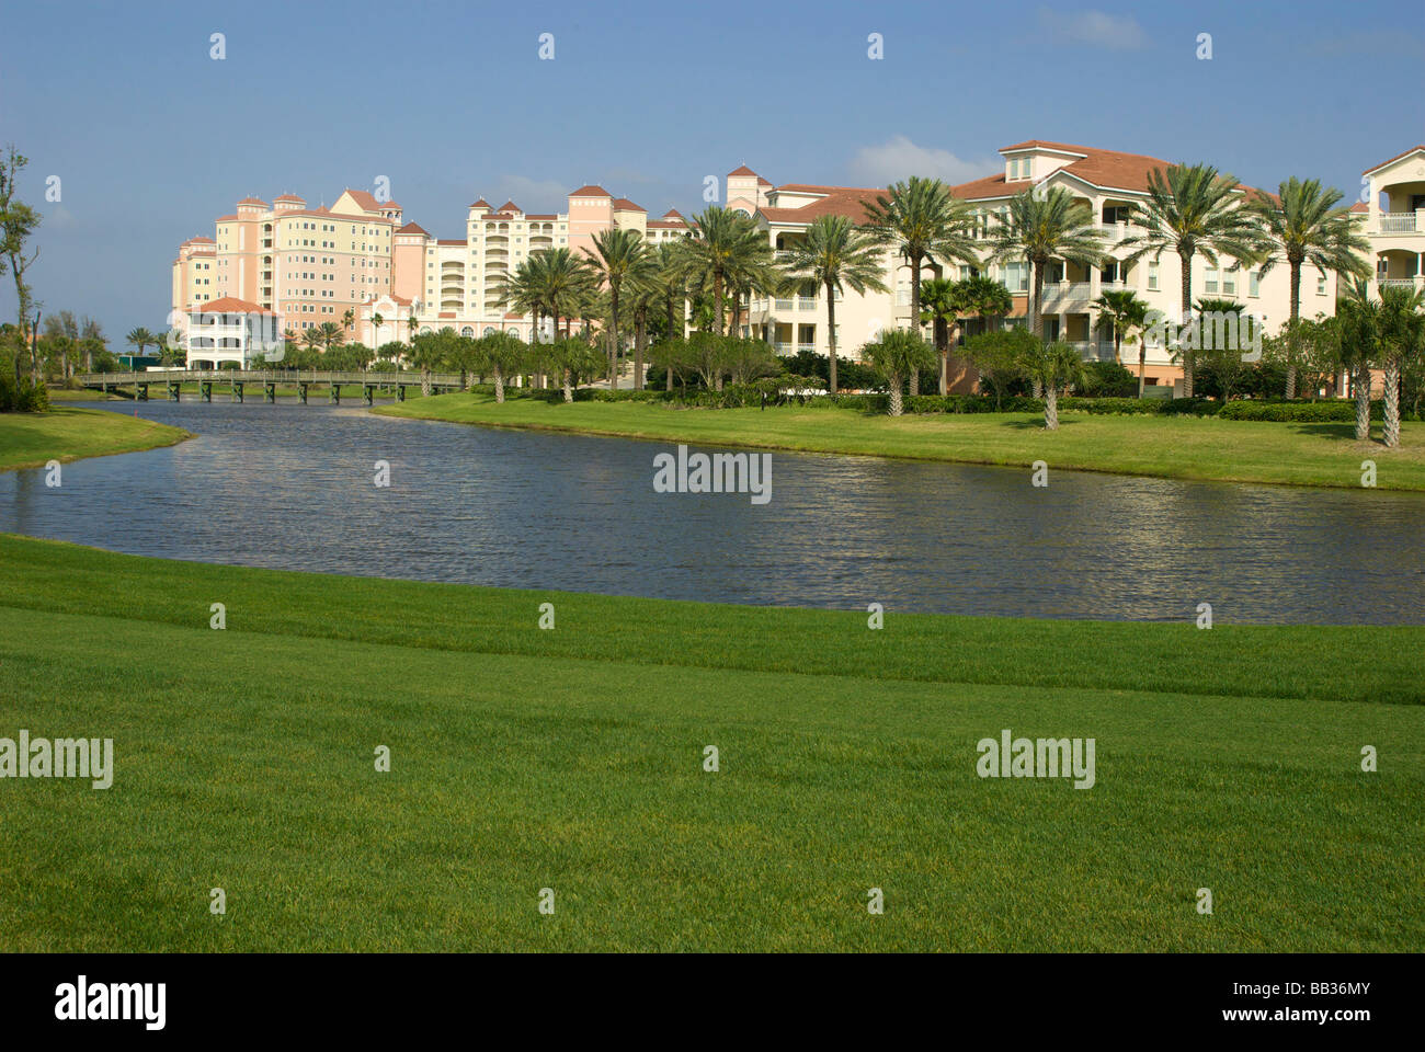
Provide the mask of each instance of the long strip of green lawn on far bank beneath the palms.
{"label": "long strip of green lawn on far bank beneath the palms", "polygon": [[[724,446],[895,456],[1168,479],[1361,488],[1377,462],[1379,489],[1425,490],[1425,423],[1402,425],[1401,446],[1357,442],[1349,423],[1267,423],[1064,413],[1056,433],[1037,413],[891,418],[855,409],[673,409],[634,402],[543,402],[435,395],[379,406],[389,416],[570,430]],[[1375,428],[1379,433],[1379,425]]]}

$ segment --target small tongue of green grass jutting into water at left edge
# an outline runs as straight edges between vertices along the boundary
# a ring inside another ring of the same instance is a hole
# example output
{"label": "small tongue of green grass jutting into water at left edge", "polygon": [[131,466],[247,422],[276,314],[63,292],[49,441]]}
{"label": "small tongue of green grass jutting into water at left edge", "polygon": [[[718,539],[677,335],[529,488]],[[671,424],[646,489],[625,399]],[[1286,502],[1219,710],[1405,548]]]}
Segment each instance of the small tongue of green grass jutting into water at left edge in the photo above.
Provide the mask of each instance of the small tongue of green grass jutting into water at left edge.
{"label": "small tongue of green grass jutting into water at left edge", "polygon": [[104,409],[54,406],[47,413],[0,413],[0,470],[133,453],[188,438],[192,435],[182,428]]}

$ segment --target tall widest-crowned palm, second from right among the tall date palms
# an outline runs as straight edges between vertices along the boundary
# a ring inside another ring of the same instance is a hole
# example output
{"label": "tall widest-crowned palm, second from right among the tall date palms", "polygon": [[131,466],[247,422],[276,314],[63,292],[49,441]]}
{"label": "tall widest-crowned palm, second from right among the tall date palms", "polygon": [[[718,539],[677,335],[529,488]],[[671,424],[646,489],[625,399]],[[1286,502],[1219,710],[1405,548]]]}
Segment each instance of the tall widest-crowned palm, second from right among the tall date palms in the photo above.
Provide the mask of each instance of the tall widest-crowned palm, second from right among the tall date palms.
{"label": "tall widest-crowned palm, second from right among the tall date palms", "polygon": [[[1213,267],[1226,255],[1254,265],[1270,251],[1257,214],[1243,205],[1243,188],[1231,175],[1218,175],[1210,164],[1174,164],[1149,172],[1149,200],[1136,215],[1143,230],[1120,242],[1126,262],[1151,254],[1177,252],[1181,267],[1181,321],[1193,316],[1193,259]],[[1193,396],[1193,349],[1183,352],[1183,393]]]}

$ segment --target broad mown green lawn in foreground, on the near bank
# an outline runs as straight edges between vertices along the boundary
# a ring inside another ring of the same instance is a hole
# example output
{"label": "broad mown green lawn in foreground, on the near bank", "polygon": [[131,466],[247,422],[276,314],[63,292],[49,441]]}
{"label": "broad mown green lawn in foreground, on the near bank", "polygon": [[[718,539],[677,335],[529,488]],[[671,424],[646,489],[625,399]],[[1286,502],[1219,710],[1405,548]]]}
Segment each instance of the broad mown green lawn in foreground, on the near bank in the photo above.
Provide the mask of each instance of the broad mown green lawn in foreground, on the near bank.
{"label": "broad mown green lawn in foreground, on the near bank", "polygon": [[[0,536],[0,736],[117,768],[0,781],[0,949],[1415,949],[1422,643],[869,631]],[[1096,738],[1097,785],[978,778],[1002,727]]]}

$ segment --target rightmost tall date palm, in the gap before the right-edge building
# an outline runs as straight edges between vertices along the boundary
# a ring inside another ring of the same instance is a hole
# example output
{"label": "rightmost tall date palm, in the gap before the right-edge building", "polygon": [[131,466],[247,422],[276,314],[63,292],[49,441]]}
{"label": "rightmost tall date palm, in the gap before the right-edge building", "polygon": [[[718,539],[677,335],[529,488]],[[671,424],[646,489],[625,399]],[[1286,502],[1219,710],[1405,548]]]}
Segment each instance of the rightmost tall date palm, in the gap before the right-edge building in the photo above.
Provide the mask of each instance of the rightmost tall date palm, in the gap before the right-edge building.
{"label": "rightmost tall date palm, in the gap before the right-edge building", "polygon": [[1263,261],[1261,272],[1271,269],[1277,254],[1281,254],[1291,274],[1287,398],[1297,396],[1295,329],[1301,319],[1301,265],[1310,262],[1322,272],[1371,277],[1371,265],[1361,258],[1361,254],[1371,251],[1371,245],[1355,232],[1351,210],[1338,207],[1341,197],[1335,187],[1322,190],[1318,180],[1302,182],[1292,175],[1277,188],[1277,201],[1263,195],[1251,205],[1271,245],[1271,255]]}

